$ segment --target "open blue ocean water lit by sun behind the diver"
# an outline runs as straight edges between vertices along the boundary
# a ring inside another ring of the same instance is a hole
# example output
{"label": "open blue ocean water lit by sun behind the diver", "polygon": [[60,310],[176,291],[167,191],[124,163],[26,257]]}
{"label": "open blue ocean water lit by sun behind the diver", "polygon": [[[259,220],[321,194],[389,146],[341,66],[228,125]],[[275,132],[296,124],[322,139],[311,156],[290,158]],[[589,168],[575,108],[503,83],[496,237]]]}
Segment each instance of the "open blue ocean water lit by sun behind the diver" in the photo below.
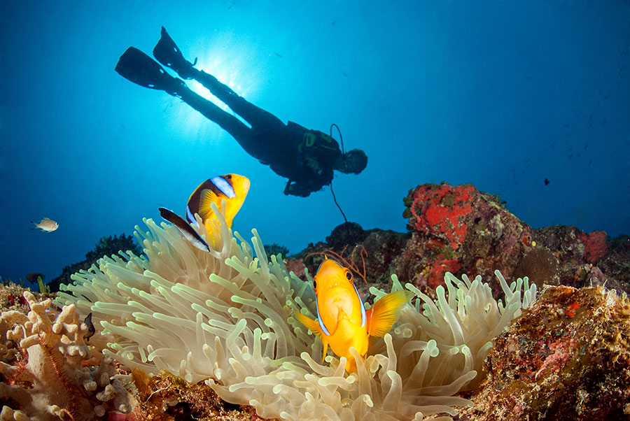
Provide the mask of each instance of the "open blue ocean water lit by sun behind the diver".
{"label": "open blue ocean water lit by sun behind the diver", "polygon": [[[404,231],[407,191],[445,180],[533,227],[630,232],[629,1],[3,1],[3,278],[55,278],[225,173],[251,180],[246,237],[298,252],[343,222],[330,189],[283,195],[218,125],[114,71],[162,25],[248,101],[365,150],[333,187],[366,229]],[[59,229],[31,231],[43,217]]]}

